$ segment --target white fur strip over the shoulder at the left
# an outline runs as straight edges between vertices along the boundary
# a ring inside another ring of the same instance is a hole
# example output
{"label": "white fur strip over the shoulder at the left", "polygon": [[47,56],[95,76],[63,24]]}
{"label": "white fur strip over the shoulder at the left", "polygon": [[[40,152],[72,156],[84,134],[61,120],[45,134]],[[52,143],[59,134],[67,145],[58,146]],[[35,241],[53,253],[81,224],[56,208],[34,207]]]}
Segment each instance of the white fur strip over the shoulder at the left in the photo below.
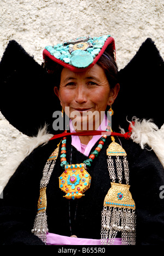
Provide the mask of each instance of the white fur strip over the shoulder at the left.
{"label": "white fur strip over the shoulder at the left", "polygon": [[53,135],[47,133],[46,126],[44,126],[43,129],[38,131],[38,135],[36,137],[23,136],[21,138],[21,147],[18,149],[17,153],[10,156],[8,163],[0,170],[0,194],[20,163],[30,155],[35,148],[48,143],[52,136]]}

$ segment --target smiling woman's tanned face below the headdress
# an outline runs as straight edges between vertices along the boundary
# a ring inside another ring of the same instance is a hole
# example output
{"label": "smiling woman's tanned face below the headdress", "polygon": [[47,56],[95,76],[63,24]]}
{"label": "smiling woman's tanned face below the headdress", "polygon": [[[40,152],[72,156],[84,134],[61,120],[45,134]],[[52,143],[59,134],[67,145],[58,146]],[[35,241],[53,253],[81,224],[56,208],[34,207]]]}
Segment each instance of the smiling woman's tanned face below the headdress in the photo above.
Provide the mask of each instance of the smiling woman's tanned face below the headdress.
{"label": "smiling woman's tanned face below the headdress", "polygon": [[[100,66],[95,64],[92,68],[79,73],[63,68],[61,72],[60,88],[58,90],[57,87],[55,87],[54,90],[67,115],[67,109],[69,109],[69,117],[72,120],[76,118],[76,121],[79,120],[81,123],[83,117],[83,122],[87,123],[86,130],[89,130],[88,125],[90,118],[84,118],[84,116],[89,113],[91,115],[96,113],[97,118],[93,118],[92,128],[95,130],[99,126],[101,113],[104,114],[107,106],[113,103],[118,95],[119,84],[116,85],[115,88],[110,89],[106,74]],[[66,107],[69,108],[66,109]],[[80,115],[79,119],[77,119],[77,115],[74,115],[75,111],[78,111]],[[98,123],[96,123],[96,120]],[[83,129],[81,127],[81,129],[75,130]]]}

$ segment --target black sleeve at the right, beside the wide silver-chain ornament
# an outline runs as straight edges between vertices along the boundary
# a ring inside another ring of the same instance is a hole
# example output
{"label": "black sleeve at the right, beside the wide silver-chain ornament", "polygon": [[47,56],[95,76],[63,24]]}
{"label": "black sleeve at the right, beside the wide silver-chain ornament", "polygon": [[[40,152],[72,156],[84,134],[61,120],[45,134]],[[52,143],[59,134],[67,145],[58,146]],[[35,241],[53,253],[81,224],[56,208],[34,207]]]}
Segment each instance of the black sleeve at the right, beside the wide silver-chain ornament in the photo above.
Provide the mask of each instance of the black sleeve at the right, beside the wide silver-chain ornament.
{"label": "black sleeve at the right, beside the wide silver-chain ornament", "polygon": [[[134,146],[135,143],[130,150]],[[163,245],[164,199],[160,188],[164,185],[164,170],[161,162],[150,149],[139,149],[129,161],[130,190],[136,203],[137,245]]]}

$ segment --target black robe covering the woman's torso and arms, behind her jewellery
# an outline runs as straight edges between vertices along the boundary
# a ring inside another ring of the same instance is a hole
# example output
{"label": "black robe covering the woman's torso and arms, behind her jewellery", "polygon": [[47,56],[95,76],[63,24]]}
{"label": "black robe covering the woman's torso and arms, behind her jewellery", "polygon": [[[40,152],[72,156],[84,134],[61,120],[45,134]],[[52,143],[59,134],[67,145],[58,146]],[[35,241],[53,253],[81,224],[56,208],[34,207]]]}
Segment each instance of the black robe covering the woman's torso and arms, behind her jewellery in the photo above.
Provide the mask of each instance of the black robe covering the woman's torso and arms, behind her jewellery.
{"label": "black robe covering the woman's torso and arms, behind her jewellery", "polygon": [[[160,188],[164,185],[163,167],[153,150],[141,149],[131,139],[115,140],[121,142],[127,153],[130,191],[136,203],[136,245],[163,245],[164,199],[160,196]],[[43,245],[42,241],[31,233],[31,229],[37,213],[43,168],[58,142],[60,139],[54,139],[34,149],[21,162],[5,187],[3,199],[0,200],[1,245]],[[63,172],[59,152],[46,189],[49,232],[65,236],[76,235],[81,238],[101,238],[101,212],[111,182],[106,155],[110,143],[111,139],[107,137],[101,152],[88,169],[91,174],[89,190],[85,191],[85,196],[75,200],[67,200],[63,197],[65,193],[59,188],[58,177]],[[69,164],[81,163],[87,158],[71,146],[71,137],[68,136]]]}

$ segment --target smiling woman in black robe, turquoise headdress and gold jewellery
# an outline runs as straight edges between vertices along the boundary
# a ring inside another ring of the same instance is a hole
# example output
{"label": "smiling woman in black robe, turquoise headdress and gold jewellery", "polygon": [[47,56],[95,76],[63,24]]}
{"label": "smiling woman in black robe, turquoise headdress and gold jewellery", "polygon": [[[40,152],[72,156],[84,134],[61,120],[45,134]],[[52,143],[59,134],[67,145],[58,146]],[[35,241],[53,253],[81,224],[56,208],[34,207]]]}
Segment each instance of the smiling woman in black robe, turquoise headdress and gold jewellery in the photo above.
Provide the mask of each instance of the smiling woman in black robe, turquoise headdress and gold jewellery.
{"label": "smiling woman in black robe, turquoise headdress and gold jewellery", "polygon": [[129,139],[132,126],[125,135],[107,136],[118,129],[107,121],[120,87],[114,39],[80,37],[46,47],[43,56],[70,124],[34,149],[10,178],[2,244],[162,244],[161,162]]}

